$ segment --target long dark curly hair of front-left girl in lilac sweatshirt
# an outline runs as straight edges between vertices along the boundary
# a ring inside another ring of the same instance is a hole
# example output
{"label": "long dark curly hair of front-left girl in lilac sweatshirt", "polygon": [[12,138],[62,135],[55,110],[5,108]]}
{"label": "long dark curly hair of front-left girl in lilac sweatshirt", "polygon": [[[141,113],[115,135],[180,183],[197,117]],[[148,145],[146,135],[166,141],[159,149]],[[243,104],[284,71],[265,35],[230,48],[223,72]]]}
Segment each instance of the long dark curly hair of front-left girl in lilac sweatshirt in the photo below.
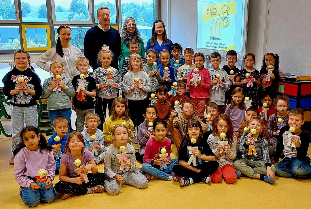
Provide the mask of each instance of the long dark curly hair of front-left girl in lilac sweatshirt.
{"label": "long dark curly hair of front-left girl in lilac sweatshirt", "polygon": [[[24,143],[24,135],[28,132],[28,131],[33,131],[35,132],[36,136],[39,136],[39,131],[36,127],[34,126],[26,126],[25,128],[23,128],[21,130],[21,141],[19,143],[19,145],[17,145],[16,149],[13,151],[13,155],[15,156],[22,148],[26,147],[25,143]],[[43,134],[40,134],[40,139],[39,139],[39,146],[40,146],[40,152],[43,154],[42,149],[45,149],[47,151],[52,151],[52,147],[50,145],[48,145],[48,143],[46,142],[45,136],[43,136]]]}

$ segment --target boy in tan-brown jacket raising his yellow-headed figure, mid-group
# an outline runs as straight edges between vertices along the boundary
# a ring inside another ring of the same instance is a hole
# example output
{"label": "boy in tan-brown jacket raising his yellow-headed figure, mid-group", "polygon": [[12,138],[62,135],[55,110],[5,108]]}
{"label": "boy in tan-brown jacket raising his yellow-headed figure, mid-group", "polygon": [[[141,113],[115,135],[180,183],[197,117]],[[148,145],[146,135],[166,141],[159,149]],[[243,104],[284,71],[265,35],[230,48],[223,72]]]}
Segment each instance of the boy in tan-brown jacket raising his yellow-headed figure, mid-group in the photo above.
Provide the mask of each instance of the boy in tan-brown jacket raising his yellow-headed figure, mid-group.
{"label": "boy in tan-brown jacket raising his yellow-headed figure, mid-group", "polygon": [[203,134],[207,131],[207,126],[194,114],[193,103],[191,100],[184,101],[182,109],[183,113],[180,114],[180,116],[177,116],[177,112],[174,109],[167,122],[167,129],[168,131],[171,131],[177,150],[179,150],[180,140],[185,132],[185,127],[191,119],[195,119],[201,123]]}

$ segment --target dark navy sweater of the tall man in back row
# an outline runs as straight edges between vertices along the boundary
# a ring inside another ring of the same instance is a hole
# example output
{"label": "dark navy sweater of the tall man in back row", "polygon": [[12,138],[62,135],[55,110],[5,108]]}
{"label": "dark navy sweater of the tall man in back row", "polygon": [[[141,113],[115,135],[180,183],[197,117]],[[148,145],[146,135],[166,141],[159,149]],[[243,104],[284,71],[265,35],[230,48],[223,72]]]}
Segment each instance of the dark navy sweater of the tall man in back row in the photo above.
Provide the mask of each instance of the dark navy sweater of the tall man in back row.
{"label": "dark navy sweater of the tall man in back row", "polygon": [[105,32],[96,25],[86,32],[83,44],[84,56],[89,59],[93,70],[101,66],[96,62],[96,57],[104,44],[109,46],[109,50],[114,53],[114,59],[110,66],[119,69],[118,57],[121,52],[121,37],[118,30],[110,26],[110,29]]}

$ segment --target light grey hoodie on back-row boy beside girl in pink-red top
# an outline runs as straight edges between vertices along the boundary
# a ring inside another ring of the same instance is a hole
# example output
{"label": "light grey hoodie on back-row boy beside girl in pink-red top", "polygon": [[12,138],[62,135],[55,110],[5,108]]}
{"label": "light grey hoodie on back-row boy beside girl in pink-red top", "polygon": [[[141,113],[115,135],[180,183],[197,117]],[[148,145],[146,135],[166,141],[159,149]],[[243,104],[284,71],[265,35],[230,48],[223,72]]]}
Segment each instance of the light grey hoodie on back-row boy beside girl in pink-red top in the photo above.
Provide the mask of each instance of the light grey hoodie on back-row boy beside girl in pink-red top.
{"label": "light grey hoodie on back-row boy beside girl in pink-red top", "polygon": [[212,89],[213,85],[211,84],[210,92],[210,101],[215,102],[217,105],[225,105],[225,91],[230,89],[229,76],[224,69],[219,69],[218,71],[213,68],[209,69],[211,75],[211,83],[216,78],[216,74],[220,74],[221,82],[225,83],[225,87],[219,87],[218,91]]}

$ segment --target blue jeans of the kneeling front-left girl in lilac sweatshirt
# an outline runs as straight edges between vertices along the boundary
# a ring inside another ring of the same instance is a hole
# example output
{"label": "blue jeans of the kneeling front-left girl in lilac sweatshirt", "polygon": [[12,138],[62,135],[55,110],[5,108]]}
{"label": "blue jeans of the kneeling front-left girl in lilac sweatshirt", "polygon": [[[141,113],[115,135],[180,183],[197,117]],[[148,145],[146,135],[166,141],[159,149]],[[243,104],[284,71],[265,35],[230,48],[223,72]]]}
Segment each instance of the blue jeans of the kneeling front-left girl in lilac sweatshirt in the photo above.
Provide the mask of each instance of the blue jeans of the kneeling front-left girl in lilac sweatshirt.
{"label": "blue jeans of the kneeling front-left girl in lilac sweatshirt", "polygon": [[25,205],[28,207],[35,207],[39,204],[40,201],[51,203],[57,198],[53,185],[50,189],[41,187],[37,191],[33,191],[31,188],[21,186],[20,196]]}

